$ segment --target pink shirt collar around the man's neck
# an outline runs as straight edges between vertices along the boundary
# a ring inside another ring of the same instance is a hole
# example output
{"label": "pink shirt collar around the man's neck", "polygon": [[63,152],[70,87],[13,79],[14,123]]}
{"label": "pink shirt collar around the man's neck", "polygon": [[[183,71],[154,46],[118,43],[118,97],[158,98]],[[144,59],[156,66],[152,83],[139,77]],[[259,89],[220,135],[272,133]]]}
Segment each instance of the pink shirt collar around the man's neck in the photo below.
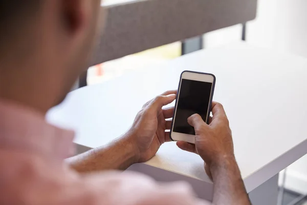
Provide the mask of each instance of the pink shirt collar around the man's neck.
{"label": "pink shirt collar around the man's neck", "polygon": [[74,132],[48,124],[45,116],[0,100],[0,147],[39,152],[64,159],[74,154]]}

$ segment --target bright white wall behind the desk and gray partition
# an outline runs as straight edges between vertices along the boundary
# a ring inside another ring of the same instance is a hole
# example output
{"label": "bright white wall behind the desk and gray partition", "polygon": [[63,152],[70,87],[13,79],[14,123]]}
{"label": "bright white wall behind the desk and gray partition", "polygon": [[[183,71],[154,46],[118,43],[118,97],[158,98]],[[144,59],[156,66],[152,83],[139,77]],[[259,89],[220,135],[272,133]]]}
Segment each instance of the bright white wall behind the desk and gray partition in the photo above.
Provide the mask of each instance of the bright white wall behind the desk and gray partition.
{"label": "bright white wall behind the desk and gray partition", "polygon": [[[249,44],[307,57],[307,0],[258,0],[257,12],[257,18],[247,24]],[[236,25],[207,33],[204,46],[238,41],[241,32],[242,26]],[[307,194],[307,156],[287,169],[286,188]]]}

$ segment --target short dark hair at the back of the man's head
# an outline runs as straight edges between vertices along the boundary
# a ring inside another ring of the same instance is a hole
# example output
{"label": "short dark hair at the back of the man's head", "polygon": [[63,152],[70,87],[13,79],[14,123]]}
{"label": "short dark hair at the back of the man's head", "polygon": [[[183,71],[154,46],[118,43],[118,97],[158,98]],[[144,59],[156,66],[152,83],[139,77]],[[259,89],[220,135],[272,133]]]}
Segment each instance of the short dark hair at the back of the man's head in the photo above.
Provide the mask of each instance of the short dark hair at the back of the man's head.
{"label": "short dark hair at the back of the man's head", "polygon": [[44,0],[0,0],[0,49],[12,41]]}

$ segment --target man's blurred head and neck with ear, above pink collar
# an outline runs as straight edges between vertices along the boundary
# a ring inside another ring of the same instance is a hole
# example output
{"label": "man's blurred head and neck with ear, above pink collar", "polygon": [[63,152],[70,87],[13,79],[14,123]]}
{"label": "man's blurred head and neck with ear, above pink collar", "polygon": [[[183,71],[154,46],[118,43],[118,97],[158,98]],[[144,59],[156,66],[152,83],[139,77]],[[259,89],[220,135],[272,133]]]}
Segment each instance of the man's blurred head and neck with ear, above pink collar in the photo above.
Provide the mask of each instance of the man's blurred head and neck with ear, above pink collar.
{"label": "man's blurred head and neck with ear, above pink collar", "polygon": [[0,98],[46,112],[87,68],[100,0],[1,0]]}

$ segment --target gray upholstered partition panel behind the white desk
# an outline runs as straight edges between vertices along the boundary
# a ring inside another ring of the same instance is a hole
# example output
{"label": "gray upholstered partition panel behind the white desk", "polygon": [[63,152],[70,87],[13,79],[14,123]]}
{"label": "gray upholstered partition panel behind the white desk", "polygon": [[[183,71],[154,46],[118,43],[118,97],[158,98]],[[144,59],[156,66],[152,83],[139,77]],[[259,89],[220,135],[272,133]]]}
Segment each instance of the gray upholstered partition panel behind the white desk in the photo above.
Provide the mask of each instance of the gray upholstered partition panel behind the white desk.
{"label": "gray upholstered partition panel behind the white desk", "polygon": [[252,20],[257,0],[142,0],[106,6],[91,65]]}

